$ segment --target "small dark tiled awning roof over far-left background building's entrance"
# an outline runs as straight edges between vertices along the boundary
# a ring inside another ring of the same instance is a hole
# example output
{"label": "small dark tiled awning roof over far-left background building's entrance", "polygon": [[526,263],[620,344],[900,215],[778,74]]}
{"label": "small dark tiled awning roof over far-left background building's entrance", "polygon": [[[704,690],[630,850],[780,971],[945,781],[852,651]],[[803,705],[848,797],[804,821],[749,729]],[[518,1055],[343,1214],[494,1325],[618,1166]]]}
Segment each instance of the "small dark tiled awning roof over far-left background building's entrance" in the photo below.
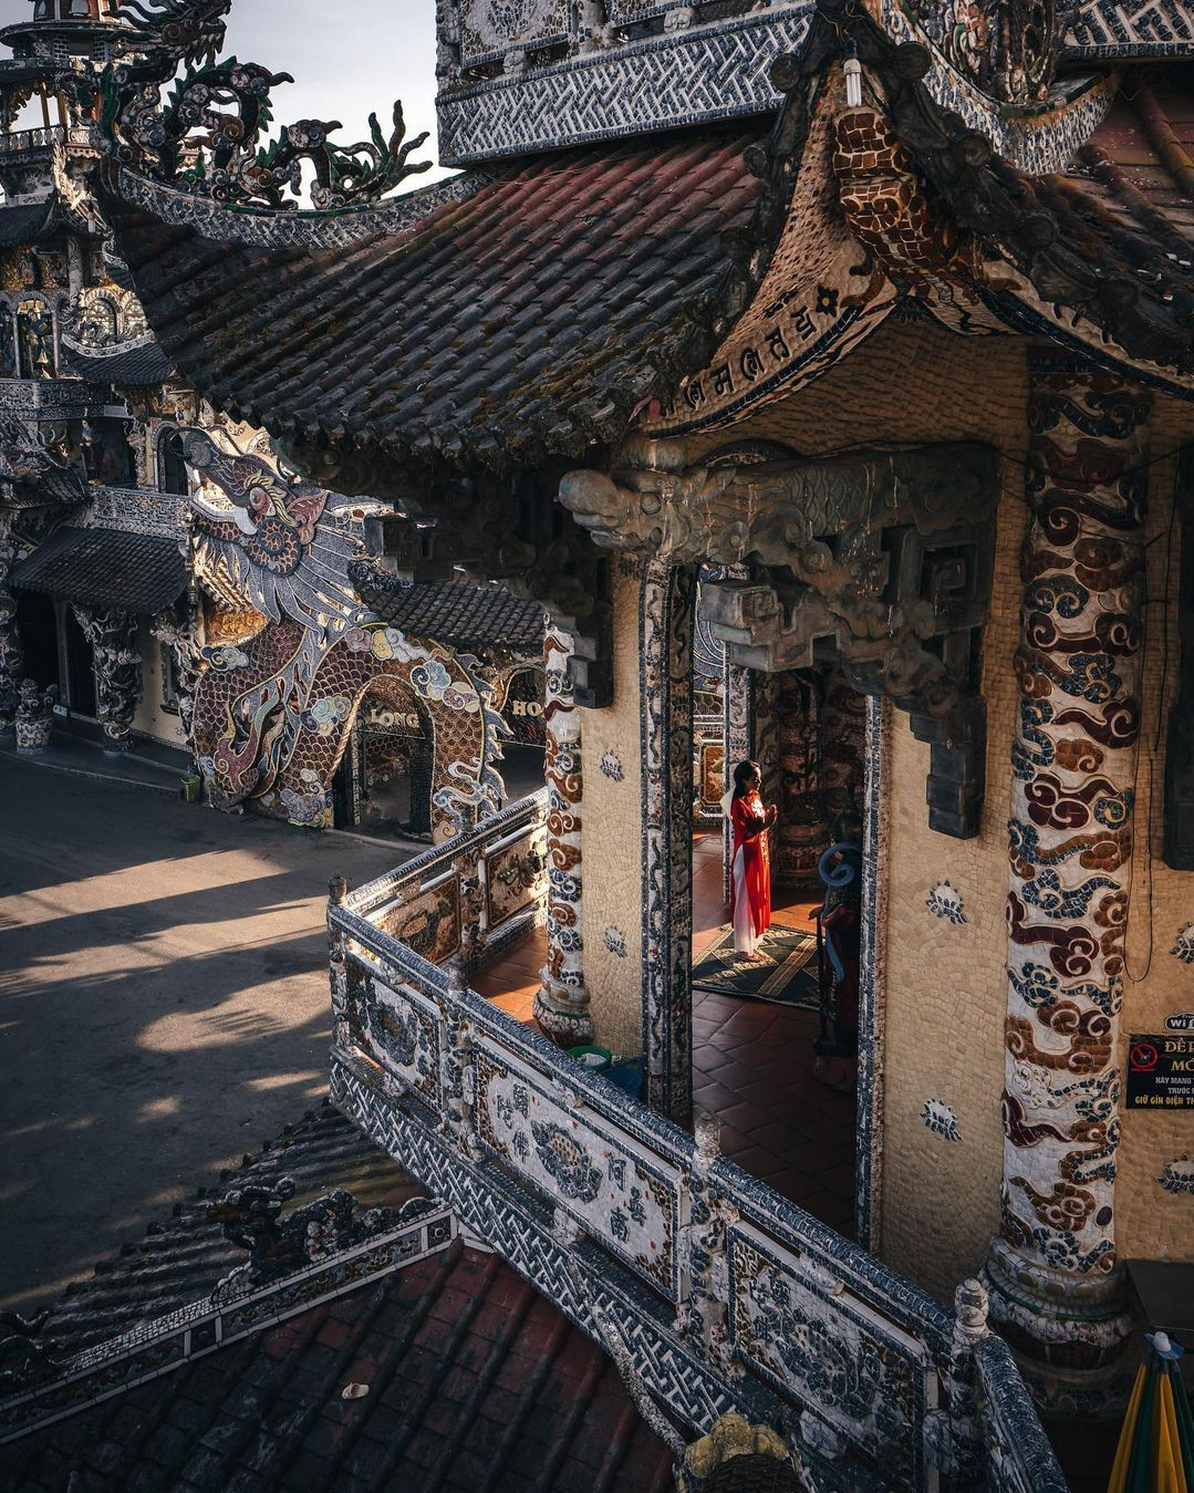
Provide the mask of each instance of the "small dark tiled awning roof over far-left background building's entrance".
{"label": "small dark tiled awning roof over far-left background building's entrance", "polygon": [[22,591],[45,591],[81,606],[116,606],[154,615],[187,587],[187,563],[173,539],[122,529],[58,529],[9,576]]}

